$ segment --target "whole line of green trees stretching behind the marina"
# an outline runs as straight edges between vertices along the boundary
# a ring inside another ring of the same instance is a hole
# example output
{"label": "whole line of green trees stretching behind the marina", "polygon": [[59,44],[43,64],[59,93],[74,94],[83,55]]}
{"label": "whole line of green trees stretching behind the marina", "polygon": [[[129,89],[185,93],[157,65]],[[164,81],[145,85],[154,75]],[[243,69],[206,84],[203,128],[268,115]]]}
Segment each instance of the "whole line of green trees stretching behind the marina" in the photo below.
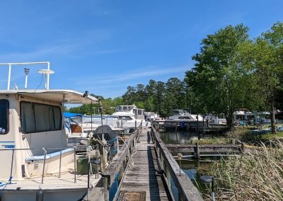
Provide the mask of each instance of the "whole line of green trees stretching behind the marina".
{"label": "whole line of green trees stretching behind the marina", "polygon": [[[185,72],[183,80],[151,79],[146,86],[128,86],[122,97],[99,97],[105,113],[114,112],[116,105],[135,104],[166,117],[178,108],[224,115],[232,127],[233,112],[239,108],[268,110],[276,132],[275,110],[283,104],[283,24],[275,23],[254,39],[248,30],[243,24],[228,25],[207,35],[200,52],[192,56],[195,67]],[[88,105],[79,108],[90,113]]]}

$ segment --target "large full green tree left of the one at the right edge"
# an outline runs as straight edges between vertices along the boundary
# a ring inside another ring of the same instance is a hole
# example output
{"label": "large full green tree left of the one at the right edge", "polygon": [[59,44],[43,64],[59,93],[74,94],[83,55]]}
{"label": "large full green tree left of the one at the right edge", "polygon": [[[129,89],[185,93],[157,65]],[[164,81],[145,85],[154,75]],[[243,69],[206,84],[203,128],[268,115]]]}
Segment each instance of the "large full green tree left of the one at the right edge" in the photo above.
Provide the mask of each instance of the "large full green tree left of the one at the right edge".
{"label": "large full green tree left of the one at the right edge", "polygon": [[202,40],[195,54],[195,68],[186,72],[185,81],[209,113],[221,114],[229,128],[233,112],[245,105],[248,70],[240,61],[239,47],[248,41],[248,28],[243,25],[221,28]]}

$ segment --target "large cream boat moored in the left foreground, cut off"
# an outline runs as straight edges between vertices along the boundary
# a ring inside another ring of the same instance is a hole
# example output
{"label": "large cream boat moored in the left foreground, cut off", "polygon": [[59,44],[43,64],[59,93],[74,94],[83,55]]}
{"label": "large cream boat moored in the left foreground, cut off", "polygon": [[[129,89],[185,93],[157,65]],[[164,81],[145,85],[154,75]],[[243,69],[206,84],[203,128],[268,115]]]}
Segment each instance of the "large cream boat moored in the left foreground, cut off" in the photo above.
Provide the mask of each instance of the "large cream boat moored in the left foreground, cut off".
{"label": "large cream boat moored in the left foreground, cut off", "polygon": [[[11,66],[10,66],[11,67]],[[100,176],[77,175],[67,147],[64,103],[98,103],[70,90],[0,91],[0,200],[80,200]]]}

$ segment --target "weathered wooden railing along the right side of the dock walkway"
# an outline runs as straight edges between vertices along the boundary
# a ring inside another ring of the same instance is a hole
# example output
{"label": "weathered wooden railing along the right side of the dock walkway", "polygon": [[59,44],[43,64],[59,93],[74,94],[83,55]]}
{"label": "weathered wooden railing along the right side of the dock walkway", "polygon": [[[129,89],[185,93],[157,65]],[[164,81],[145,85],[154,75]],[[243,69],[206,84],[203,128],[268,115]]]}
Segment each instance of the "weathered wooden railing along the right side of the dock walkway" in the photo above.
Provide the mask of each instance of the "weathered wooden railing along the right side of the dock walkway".
{"label": "weathered wooden railing along the right side of the dock walkway", "polygon": [[183,171],[180,171],[180,166],[167,149],[166,144],[159,137],[154,126],[151,127],[151,131],[158,156],[158,164],[163,172],[163,176],[166,178],[168,189],[171,191],[174,200],[203,200],[201,193],[190,178]]}

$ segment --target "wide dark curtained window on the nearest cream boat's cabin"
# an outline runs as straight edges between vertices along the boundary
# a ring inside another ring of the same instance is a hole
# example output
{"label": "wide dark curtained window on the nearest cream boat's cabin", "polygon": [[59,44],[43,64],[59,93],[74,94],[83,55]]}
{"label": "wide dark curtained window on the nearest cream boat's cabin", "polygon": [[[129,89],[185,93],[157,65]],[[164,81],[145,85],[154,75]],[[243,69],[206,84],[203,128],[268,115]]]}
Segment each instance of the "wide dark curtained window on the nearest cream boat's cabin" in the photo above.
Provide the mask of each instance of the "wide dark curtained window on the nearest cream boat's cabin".
{"label": "wide dark curtained window on the nearest cream boat's cabin", "polygon": [[62,130],[59,106],[21,102],[21,129],[23,133]]}

